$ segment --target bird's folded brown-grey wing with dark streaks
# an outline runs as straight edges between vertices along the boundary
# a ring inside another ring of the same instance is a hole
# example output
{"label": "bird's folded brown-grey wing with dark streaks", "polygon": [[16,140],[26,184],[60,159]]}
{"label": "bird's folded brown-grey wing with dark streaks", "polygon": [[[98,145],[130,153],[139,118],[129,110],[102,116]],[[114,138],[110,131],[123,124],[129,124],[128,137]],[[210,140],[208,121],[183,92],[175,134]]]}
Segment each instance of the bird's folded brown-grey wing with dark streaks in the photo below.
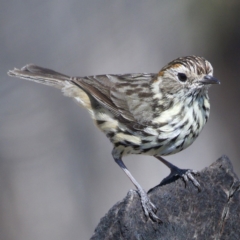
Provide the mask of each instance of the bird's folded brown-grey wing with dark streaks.
{"label": "bird's folded brown-grey wing with dark streaks", "polygon": [[[97,75],[72,82],[122,120],[144,125],[152,117],[150,81],[156,74]],[[150,114],[151,112],[151,114]]]}

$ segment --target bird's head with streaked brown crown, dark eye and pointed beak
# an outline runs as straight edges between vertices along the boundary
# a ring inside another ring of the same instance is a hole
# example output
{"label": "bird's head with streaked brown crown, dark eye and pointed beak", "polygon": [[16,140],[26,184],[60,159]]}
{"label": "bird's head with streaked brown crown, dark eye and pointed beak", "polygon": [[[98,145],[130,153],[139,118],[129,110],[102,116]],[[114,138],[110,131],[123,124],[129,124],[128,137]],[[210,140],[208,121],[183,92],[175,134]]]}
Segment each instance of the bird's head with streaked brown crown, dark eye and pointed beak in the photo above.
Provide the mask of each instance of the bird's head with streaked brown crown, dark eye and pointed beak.
{"label": "bird's head with streaked brown crown, dark eye and pointed beak", "polygon": [[212,84],[220,81],[213,77],[213,67],[203,57],[181,57],[168,63],[158,73],[158,82],[161,92],[168,94],[178,91],[200,92],[205,91]]}

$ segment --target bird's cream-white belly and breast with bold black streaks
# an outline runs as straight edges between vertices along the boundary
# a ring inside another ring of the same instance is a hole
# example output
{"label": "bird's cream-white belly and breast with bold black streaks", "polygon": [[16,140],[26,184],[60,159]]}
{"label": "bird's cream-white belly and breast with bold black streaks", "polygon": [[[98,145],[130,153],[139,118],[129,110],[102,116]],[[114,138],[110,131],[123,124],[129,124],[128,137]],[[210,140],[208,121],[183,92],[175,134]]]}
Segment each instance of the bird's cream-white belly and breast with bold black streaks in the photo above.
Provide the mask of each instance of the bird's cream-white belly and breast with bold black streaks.
{"label": "bird's cream-white belly and breast with bold black streaks", "polygon": [[[196,114],[194,113],[196,112]],[[190,146],[198,137],[208,116],[199,105],[185,111],[181,118],[170,118],[165,125],[133,129],[120,123],[113,115],[102,111],[95,115],[97,126],[121,155],[170,155]]]}

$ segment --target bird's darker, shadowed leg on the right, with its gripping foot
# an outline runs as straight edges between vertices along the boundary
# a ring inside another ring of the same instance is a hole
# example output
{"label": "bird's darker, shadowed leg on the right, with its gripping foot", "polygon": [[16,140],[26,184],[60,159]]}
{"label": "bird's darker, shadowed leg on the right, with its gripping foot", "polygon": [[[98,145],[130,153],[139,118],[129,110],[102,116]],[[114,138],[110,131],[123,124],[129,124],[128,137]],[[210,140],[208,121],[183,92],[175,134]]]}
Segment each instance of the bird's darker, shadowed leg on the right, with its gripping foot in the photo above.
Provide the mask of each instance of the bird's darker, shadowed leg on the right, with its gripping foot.
{"label": "bird's darker, shadowed leg on the right, with its gripping foot", "polygon": [[171,178],[179,176],[179,177],[183,178],[185,184],[190,180],[190,181],[192,181],[194,186],[196,186],[198,188],[198,190],[201,190],[199,182],[193,177],[193,175],[198,174],[197,171],[192,170],[192,169],[180,169],[180,168],[176,167],[175,165],[171,164],[170,162],[166,161],[164,158],[162,158],[160,156],[155,156],[155,158],[157,158],[162,163],[164,163],[171,171],[170,174],[162,180],[160,185],[164,185]]}

